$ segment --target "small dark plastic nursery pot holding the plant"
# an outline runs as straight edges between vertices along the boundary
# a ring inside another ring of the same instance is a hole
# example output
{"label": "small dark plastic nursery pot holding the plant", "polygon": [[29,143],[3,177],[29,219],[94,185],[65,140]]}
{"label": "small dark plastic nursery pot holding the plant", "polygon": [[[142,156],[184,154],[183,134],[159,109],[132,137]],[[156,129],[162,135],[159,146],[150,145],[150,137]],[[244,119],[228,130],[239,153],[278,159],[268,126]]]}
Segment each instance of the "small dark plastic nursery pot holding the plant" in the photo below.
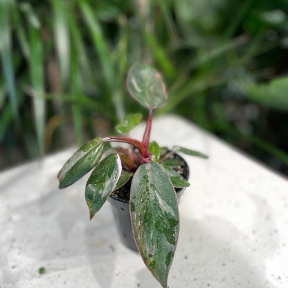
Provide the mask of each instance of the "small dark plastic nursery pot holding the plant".
{"label": "small dark plastic nursery pot holding the plant", "polygon": [[[173,158],[179,159],[183,162],[182,176],[188,181],[189,178],[188,164],[181,156],[179,156],[179,154],[174,154]],[[125,185],[128,186],[127,190],[130,190],[131,181],[128,181]],[[175,188],[178,200],[180,199],[185,189],[186,188]],[[109,202],[112,207],[116,227],[118,230],[118,234],[120,235],[121,242],[125,246],[127,246],[127,248],[132,249],[134,251],[138,251],[132,232],[129,201],[111,195],[109,197]]]}

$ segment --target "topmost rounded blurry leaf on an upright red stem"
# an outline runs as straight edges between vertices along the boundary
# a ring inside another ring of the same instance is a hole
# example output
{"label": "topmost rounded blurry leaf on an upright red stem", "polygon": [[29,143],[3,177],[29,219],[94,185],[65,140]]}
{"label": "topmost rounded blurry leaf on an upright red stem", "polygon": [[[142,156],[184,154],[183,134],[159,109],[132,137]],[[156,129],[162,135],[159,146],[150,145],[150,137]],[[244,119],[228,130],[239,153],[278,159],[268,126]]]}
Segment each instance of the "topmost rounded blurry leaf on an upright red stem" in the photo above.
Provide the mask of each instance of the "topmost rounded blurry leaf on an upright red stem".
{"label": "topmost rounded blurry leaf on an upright red stem", "polygon": [[159,108],[168,100],[160,73],[150,66],[134,64],[128,72],[127,88],[130,95],[148,109]]}

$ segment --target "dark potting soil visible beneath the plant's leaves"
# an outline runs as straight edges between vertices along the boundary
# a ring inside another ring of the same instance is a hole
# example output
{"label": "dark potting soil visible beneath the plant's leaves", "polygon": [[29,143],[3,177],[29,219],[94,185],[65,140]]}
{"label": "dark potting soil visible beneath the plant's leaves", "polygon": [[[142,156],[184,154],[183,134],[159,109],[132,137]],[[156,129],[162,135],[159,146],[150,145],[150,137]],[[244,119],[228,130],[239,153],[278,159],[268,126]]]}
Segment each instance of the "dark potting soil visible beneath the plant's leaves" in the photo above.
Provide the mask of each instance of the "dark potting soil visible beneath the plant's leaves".
{"label": "dark potting soil visible beneath the plant's leaves", "polygon": [[[183,160],[183,158],[181,156],[179,156],[178,154],[173,154],[170,159],[178,159],[180,161],[182,161],[182,165],[177,166],[177,168],[175,168],[174,170],[176,170],[178,172],[178,174],[181,174],[181,176],[183,176],[185,179],[188,179],[188,167],[186,165],[186,162]],[[123,199],[125,201],[129,201],[130,199],[130,187],[131,187],[131,183],[132,183],[132,178],[130,178],[127,183],[120,187],[118,190],[112,192],[111,196],[115,197],[115,198],[120,198]],[[175,188],[175,191],[179,191],[181,190],[181,188]]]}

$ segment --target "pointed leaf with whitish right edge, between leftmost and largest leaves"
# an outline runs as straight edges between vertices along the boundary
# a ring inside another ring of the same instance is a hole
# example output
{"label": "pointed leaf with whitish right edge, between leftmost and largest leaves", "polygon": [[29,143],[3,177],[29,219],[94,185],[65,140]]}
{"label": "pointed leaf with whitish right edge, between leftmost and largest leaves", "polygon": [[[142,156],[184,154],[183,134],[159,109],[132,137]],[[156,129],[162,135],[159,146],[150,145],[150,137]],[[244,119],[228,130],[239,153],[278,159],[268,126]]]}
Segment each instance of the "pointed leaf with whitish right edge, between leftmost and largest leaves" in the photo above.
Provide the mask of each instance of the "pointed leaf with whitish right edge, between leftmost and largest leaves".
{"label": "pointed leaf with whitish right edge, between leftmost and largest leaves", "polygon": [[116,188],[122,165],[118,154],[110,154],[91,173],[85,188],[90,219],[102,207]]}

